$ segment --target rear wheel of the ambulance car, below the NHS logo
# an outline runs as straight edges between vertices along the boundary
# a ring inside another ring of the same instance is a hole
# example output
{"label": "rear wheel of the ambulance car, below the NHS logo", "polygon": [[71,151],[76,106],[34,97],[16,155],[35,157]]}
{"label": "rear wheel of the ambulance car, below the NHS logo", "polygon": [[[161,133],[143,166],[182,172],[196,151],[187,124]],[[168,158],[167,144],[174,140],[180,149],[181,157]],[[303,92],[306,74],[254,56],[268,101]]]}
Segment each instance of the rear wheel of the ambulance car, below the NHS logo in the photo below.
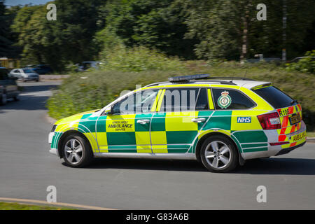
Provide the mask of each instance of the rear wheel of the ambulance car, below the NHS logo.
{"label": "rear wheel of the ambulance car, below the NHS logo", "polygon": [[224,173],[237,167],[239,154],[230,139],[215,135],[202,144],[200,158],[209,171]]}

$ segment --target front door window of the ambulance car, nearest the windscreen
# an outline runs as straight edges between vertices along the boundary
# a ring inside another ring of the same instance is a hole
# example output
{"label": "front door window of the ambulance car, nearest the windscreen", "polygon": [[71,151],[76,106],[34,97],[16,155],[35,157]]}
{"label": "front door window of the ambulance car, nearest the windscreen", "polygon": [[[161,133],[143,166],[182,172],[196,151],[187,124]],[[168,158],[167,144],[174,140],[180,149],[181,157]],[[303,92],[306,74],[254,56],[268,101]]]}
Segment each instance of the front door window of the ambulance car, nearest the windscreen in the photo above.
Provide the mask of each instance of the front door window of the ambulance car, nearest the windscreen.
{"label": "front door window of the ambulance car, nearest the windscreen", "polygon": [[144,90],[130,94],[113,106],[114,114],[148,113],[159,90]]}

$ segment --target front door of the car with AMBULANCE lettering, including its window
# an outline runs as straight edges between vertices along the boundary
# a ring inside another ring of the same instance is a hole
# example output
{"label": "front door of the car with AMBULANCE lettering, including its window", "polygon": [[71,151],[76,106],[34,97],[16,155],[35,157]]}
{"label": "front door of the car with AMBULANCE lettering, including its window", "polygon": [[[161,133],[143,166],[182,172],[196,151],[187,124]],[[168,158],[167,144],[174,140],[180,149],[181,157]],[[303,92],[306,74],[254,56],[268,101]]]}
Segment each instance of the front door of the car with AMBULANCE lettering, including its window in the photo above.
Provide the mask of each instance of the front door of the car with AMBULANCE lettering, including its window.
{"label": "front door of the car with AMBULANCE lettering, including its window", "polygon": [[137,91],[97,120],[100,153],[152,153],[150,126],[159,89]]}

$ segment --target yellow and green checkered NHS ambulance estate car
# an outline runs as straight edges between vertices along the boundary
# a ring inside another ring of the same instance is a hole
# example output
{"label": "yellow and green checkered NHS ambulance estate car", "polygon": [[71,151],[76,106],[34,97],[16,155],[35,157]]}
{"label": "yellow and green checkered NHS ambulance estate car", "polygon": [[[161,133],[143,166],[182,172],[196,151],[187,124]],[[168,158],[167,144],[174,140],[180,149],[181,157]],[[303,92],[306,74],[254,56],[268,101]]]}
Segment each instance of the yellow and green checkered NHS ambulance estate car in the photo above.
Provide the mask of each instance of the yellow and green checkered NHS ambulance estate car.
{"label": "yellow and green checkered NHS ambulance estate car", "polygon": [[305,141],[300,104],[272,83],[208,74],[147,85],[103,109],[58,120],[49,134],[50,153],[70,167],[98,157],[186,158],[211,172]]}

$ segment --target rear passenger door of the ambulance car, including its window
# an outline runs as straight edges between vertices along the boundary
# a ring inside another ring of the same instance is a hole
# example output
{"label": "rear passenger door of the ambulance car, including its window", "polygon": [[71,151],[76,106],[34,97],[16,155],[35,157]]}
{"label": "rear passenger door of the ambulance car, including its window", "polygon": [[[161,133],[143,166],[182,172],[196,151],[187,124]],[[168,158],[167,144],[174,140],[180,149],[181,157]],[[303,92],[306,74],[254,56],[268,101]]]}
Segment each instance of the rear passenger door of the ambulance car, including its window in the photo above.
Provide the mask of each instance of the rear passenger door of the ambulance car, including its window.
{"label": "rear passenger door of the ambulance car, including its window", "polygon": [[207,88],[163,90],[151,122],[153,153],[186,153],[211,115]]}

